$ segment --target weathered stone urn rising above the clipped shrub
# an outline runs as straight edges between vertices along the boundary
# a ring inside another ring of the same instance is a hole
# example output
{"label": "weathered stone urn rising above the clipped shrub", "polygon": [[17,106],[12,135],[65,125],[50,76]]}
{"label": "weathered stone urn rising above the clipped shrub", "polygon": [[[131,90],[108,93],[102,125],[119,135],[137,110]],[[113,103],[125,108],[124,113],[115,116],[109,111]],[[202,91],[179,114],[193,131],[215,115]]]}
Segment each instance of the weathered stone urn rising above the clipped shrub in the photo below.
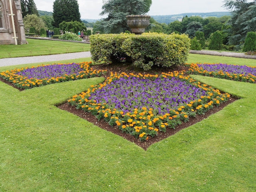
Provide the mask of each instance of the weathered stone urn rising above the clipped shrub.
{"label": "weathered stone urn rising above the clipped shrub", "polygon": [[126,16],[127,25],[132,29],[132,33],[141,35],[149,25],[149,15],[128,15]]}

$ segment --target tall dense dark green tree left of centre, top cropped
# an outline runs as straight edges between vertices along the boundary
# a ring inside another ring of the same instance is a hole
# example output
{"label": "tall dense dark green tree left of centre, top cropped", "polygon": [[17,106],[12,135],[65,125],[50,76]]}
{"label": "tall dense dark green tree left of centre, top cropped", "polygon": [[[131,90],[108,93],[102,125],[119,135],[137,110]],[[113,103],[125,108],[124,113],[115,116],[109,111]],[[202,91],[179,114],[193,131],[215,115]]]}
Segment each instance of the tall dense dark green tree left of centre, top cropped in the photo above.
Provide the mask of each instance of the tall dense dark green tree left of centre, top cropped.
{"label": "tall dense dark green tree left of centre, top cropped", "polygon": [[54,19],[52,25],[57,28],[63,21],[78,21],[82,23],[77,0],[55,0],[52,16]]}

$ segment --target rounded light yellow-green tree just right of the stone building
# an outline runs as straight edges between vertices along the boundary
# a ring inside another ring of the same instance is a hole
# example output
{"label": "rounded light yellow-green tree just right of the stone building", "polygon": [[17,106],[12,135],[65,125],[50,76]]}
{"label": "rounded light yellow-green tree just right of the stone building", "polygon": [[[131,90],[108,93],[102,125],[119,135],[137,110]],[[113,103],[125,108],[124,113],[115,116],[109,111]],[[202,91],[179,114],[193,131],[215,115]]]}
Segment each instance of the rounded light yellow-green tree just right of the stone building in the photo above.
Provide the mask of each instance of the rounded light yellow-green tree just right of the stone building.
{"label": "rounded light yellow-green tree just right of the stone building", "polygon": [[40,33],[40,28],[45,28],[45,24],[42,19],[40,19],[37,15],[26,15],[23,19],[25,29],[29,29],[30,27],[36,28],[36,34]]}

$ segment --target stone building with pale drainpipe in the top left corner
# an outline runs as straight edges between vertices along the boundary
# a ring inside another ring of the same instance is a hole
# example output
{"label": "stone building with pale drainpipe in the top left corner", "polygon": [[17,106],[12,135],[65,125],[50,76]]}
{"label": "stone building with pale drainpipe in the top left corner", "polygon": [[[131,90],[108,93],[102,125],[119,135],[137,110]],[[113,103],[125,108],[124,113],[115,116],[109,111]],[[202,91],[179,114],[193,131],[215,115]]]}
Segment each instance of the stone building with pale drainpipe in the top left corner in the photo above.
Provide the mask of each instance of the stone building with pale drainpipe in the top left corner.
{"label": "stone building with pale drainpipe in the top left corner", "polygon": [[27,44],[20,0],[0,0],[0,45],[8,44]]}

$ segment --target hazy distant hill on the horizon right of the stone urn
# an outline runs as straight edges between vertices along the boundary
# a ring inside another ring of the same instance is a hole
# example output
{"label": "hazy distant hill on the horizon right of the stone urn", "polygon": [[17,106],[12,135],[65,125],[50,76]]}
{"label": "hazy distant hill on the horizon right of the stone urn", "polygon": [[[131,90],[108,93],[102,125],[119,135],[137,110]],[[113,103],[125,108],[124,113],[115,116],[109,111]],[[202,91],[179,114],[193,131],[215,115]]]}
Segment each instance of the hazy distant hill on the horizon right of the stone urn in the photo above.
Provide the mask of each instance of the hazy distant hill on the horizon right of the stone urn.
{"label": "hazy distant hill on the horizon right of the stone urn", "polygon": [[208,13],[181,13],[175,15],[152,15],[158,23],[166,23],[174,22],[175,20],[181,21],[183,17],[188,16],[200,16],[202,18],[206,17],[221,17],[225,15],[230,15],[230,12],[208,12]]}

